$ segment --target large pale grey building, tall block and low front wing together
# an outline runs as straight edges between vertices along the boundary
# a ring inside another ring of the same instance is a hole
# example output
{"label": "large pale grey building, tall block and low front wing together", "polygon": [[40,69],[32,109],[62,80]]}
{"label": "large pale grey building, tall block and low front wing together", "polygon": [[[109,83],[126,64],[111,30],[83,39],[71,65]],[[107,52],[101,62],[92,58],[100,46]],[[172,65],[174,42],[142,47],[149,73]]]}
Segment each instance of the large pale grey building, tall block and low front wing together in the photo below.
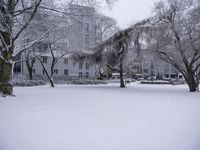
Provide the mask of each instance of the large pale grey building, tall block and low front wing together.
{"label": "large pale grey building, tall block and low front wing together", "polygon": [[[66,14],[68,15],[65,16]],[[40,13],[35,18],[37,19],[39,18],[40,20],[42,15],[46,16],[47,14]],[[66,42],[63,45],[66,45],[66,46],[62,46],[61,48],[62,50],[60,50],[60,47],[59,47],[59,50],[55,51],[55,56],[57,58],[59,58],[62,53],[67,53],[69,51],[89,50],[90,48],[95,46],[97,35],[96,35],[96,24],[95,24],[94,15],[95,15],[95,10],[91,7],[71,4],[69,6],[69,9],[64,13],[63,16],[56,16],[57,19],[59,17],[65,18],[65,20],[67,21],[66,22],[61,21],[61,23],[64,24],[64,26],[66,25],[68,27],[68,29],[64,31],[66,33],[63,34],[64,36],[62,37],[63,41]],[[37,22],[37,20],[35,22]],[[41,29],[41,27],[39,29]],[[31,36],[31,37],[37,38],[35,36]],[[29,38],[27,38],[27,40]],[[52,58],[51,53],[48,51],[48,43],[44,40],[42,42],[38,42],[32,48],[31,53],[34,53],[35,55],[40,55],[42,58],[43,64],[45,65],[47,70],[50,72],[53,58]],[[26,59],[25,53],[24,55],[22,55],[22,59]],[[54,77],[55,78],[64,77],[64,78],[94,79],[96,78],[97,72],[98,72],[96,68],[97,67],[95,65],[91,66],[89,65],[88,62],[74,63],[74,61],[70,58],[70,55],[66,54],[55,65]],[[21,73],[28,74],[28,70],[27,70],[25,62],[22,63]],[[44,69],[38,59],[34,59],[33,75],[46,78]]]}

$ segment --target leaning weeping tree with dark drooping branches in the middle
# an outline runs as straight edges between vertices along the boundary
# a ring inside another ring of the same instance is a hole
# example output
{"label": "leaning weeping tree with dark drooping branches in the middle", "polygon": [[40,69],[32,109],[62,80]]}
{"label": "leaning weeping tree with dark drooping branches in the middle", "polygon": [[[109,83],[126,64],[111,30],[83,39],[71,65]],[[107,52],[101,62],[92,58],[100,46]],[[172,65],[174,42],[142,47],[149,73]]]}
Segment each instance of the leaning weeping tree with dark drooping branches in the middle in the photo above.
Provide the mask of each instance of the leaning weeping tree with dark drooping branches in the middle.
{"label": "leaning weeping tree with dark drooping branches in the middle", "polygon": [[119,31],[107,40],[90,51],[79,51],[73,53],[75,62],[89,60],[91,64],[101,64],[120,74],[120,87],[125,87],[124,83],[124,63],[129,47],[136,49],[140,54],[142,33],[149,31],[150,20],[145,19],[134,24],[128,29]]}

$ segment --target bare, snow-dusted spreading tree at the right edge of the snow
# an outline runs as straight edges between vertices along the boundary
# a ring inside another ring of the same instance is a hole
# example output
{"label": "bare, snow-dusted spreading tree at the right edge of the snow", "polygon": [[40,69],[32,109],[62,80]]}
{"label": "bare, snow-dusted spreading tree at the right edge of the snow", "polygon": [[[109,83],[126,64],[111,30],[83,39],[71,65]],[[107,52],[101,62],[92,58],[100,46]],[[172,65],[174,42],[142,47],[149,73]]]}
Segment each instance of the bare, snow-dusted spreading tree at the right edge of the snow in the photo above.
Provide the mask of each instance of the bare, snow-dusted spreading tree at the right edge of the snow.
{"label": "bare, snow-dusted spreading tree at the right edge of the snow", "polygon": [[200,80],[200,5],[196,0],[167,0],[156,4],[157,28],[151,48],[184,76],[191,92]]}

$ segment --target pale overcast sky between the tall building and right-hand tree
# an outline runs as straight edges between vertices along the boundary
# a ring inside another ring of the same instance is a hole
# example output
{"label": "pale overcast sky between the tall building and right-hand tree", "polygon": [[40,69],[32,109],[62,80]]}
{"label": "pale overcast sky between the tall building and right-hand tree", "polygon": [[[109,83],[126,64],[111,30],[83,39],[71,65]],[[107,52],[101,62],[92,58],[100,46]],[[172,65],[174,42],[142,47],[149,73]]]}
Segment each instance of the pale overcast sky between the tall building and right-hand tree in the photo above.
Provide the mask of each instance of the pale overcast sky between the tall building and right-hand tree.
{"label": "pale overcast sky between the tall building and right-hand tree", "polygon": [[119,27],[125,28],[135,21],[151,16],[156,1],[158,0],[118,0],[112,10],[104,9],[102,12],[115,18]]}

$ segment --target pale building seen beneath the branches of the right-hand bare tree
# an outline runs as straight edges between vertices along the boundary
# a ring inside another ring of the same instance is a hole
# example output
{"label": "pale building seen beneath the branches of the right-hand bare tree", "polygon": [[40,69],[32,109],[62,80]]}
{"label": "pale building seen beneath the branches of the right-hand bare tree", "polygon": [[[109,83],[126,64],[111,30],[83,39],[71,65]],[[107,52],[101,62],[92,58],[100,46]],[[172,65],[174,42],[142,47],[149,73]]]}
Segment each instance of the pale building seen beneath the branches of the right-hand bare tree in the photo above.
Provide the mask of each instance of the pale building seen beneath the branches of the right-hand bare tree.
{"label": "pale building seen beneath the branches of the right-hand bare tree", "polygon": [[143,50],[142,56],[135,53],[132,61],[132,75],[135,78],[178,79],[182,78],[171,64],[164,62],[150,50]]}

